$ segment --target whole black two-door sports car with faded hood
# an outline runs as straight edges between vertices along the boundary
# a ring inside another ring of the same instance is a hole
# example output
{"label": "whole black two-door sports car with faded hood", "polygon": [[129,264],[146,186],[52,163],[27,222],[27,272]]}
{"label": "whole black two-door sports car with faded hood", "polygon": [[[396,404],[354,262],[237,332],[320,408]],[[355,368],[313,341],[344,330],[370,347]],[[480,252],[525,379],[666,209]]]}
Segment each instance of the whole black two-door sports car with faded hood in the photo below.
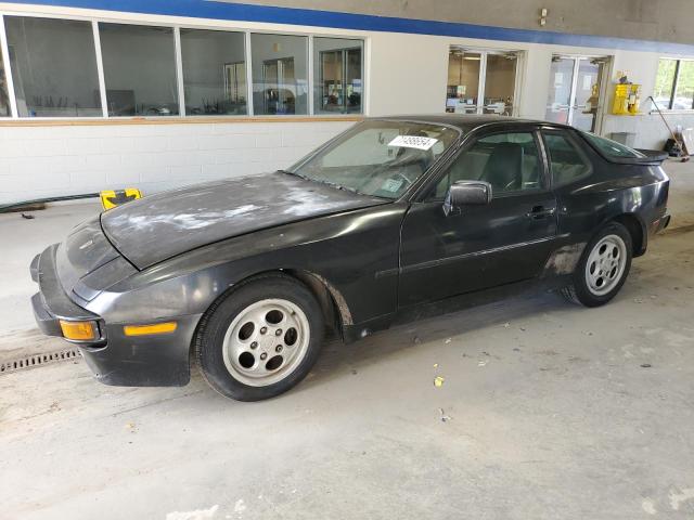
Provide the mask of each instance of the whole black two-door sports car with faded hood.
{"label": "whole black two-door sports car with faded hood", "polygon": [[220,393],[269,398],[326,329],[352,341],[528,283],[607,302],[668,224],[663,159],[538,121],[367,119],[285,171],[77,226],[31,263],[36,318],[105,384],[185,385],[193,354]]}

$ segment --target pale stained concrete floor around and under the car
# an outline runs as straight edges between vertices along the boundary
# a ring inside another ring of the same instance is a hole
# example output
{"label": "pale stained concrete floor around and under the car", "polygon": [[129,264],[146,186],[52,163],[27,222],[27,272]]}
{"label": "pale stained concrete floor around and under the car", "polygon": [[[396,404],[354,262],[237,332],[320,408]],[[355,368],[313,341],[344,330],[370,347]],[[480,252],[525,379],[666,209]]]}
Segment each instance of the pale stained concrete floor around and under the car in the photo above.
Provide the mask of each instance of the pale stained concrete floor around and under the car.
{"label": "pale stained concrete floor around and under the car", "polygon": [[[0,518],[694,518],[694,166],[667,168],[673,229],[600,309],[542,294],[330,343],[261,403],[80,361],[0,376]],[[26,265],[90,211],[0,216],[0,355],[63,344],[26,328]]]}

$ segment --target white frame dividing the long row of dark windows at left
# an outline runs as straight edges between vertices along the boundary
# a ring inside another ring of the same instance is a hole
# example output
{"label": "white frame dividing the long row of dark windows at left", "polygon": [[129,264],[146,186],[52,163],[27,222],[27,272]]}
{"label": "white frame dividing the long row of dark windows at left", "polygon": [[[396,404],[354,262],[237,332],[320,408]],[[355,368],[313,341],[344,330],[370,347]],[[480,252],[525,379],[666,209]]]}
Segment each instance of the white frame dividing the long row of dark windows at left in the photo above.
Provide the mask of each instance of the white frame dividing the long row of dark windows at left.
{"label": "white frame dividing the long row of dark windows at left", "polygon": [[[94,50],[97,54],[97,68],[99,74],[99,89],[102,101],[103,113],[100,116],[80,116],[80,117],[26,117],[20,116],[16,107],[16,98],[14,92],[14,83],[13,83],[13,70],[10,63],[8,40],[5,34],[5,25],[4,25],[4,16],[24,16],[24,17],[33,17],[33,18],[51,18],[51,20],[73,20],[73,21],[81,21],[89,22],[92,24],[92,30],[94,32]],[[287,30],[271,30],[271,29],[254,29],[250,27],[240,27],[234,25],[222,25],[223,21],[219,21],[219,24],[196,24],[194,21],[191,23],[171,23],[166,21],[140,21],[140,20],[129,20],[127,17],[120,16],[89,16],[89,15],[76,15],[76,14],[57,14],[57,13],[39,13],[33,11],[24,11],[24,10],[2,10],[0,11],[0,55],[4,60],[5,63],[5,75],[8,76],[7,84],[8,84],[8,95],[10,99],[10,117],[2,117],[0,121],[13,121],[13,122],[22,122],[22,121],[142,121],[146,120],[151,121],[176,121],[176,122],[205,122],[210,121],[213,119],[216,120],[229,120],[233,121],[234,119],[239,120],[292,120],[292,119],[316,119],[320,120],[355,120],[356,118],[362,119],[368,117],[368,96],[369,92],[367,91],[367,84],[369,81],[369,73],[368,73],[368,55],[370,52],[370,37],[355,35],[355,34],[322,34],[322,32],[308,32],[308,31],[287,31]],[[146,27],[167,27],[174,30],[174,54],[175,54],[175,74],[177,77],[177,93],[178,93],[178,102],[179,102],[179,114],[170,117],[162,117],[162,116],[110,116],[107,110],[107,102],[106,102],[106,86],[104,79],[104,70],[103,70],[103,56],[101,49],[101,38],[99,24],[121,24],[121,25],[134,25],[134,26],[146,26]],[[245,25],[245,24],[244,24]],[[184,89],[183,89],[183,77],[182,77],[182,57],[181,57],[181,44],[180,44],[180,29],[193,29],[193,30],[217,30],[223,32],[240,32],[244,35],[245,38],[245,54],[244,60],[246,64],[246,86],[248,92],[246,98],[248,100],[247,114],[223,114],[216,116],[206,116],[201,117],[197,115],[189,115],[185,113],[185,98],[184,98]],[[277,35],[277,36],[299,36],[308,38],[308,49],[307,49],[307,83],[308,83],[308,99],[307,99],[307,112],[306,114],[280,114],[280,115],[256,115],[253,109],[253,64],[252,64],[252,46],[250,46],[250,35],[252,34],[261,34],[261,35]],[[354,40],[355,42],[361,43],[362,49],[362,101],[361,101],[361,110],[359,113],[349,113],[349,114],[318,114],[314,110],[313,106],[313,38],[336,38],[342,40]]]}

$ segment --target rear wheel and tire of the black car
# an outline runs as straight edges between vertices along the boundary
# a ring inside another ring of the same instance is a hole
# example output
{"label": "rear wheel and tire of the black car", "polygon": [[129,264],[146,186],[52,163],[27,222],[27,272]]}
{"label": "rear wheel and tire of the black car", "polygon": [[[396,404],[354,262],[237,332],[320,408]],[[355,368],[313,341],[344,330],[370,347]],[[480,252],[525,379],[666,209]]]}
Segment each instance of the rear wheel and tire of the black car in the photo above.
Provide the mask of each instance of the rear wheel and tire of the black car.
{"label": "rear wheel and tire of the black car", "polygon": [[562,289],[571,303],[600,307],[612,300],[625,284],[633,246],[631,234],[619,222],[611,222],[587,244],[573,284]]}

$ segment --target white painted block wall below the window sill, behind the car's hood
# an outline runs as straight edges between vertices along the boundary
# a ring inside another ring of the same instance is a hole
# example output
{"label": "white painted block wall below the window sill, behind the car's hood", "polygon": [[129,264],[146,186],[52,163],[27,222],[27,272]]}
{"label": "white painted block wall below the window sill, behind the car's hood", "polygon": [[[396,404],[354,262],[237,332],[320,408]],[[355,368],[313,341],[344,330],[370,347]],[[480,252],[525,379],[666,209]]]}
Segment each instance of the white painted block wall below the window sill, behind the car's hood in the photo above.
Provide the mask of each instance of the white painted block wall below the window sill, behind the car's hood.
{"label": "white painted block wall below the window sill, behind the car's hood", "polygon": [[351,121],[0,127],[0,204],[290,166]]}

